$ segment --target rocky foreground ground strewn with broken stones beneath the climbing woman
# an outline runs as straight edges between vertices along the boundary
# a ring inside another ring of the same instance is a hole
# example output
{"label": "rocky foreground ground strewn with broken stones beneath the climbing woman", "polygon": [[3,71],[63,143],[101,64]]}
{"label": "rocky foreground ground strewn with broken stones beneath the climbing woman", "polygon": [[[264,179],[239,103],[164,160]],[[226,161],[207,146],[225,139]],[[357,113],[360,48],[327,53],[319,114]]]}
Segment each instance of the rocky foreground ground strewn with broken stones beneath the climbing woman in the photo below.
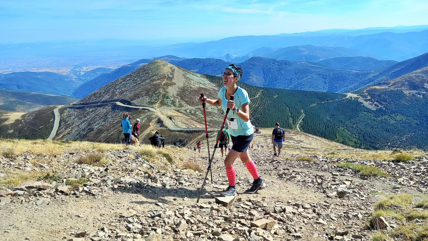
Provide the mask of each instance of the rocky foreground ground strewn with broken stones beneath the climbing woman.
{"label": "rocky foreground ground strewn with broken stones beneath the climbing woman", "polygon": [[[228,181],[217,149],[213,183],[207,182],[199,203],[205,149],[169,147],[172,160],[163,155],[158,161],[134,149],[107,150],[102,155],[109,163],[99,166],[76,164],[95,150],[3,155],[3,178],[11,170],[54,175],[0,191],[0,240],[370,240],[377,231],[366,223],[382,193],[428,193],[428,156],[397,163],[312,155],[311,162],[298,160],[299,154],[276,157],[266,147],[250,150],[268,184],[264,190],[244,193],[252,178],[238,159],[238,195],[220,197]],[[202,173],[183,169],[186,161]],[[378,167],[391,176],[360,176],[339,167],[341,162]],[[67,182],[75,179],[86,182]],[[388,228],[398,225],[386,222]]]}

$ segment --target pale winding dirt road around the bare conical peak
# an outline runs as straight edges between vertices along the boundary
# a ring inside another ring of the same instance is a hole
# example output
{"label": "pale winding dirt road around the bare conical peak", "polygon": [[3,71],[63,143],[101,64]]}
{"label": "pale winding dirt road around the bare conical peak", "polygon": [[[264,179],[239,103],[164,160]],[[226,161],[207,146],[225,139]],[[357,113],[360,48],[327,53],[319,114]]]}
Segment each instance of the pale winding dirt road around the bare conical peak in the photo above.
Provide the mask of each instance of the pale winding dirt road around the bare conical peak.
{"label": "pale winding dirt road around the bare conical peak", "polygon": [[[53,110],[53,116],[54,117],[53,117],[52,131],[51,131],[51,134],[49,135],[48,139],[46,139],[46,140],[52,140],[53,137],[56,136],[56,133],[57,133],[58,128],[59,128],[59,121],[61,119],[61,114],[59,113],[60,109],[68,108],[68,107],[82,107],[82,106],[104,105],[104,104],[117,104],[119,106],[124,106],[124,107],[129,107],[129,108],[153,111],[163,121],[163,124],[166,126],[166,128],[168,128],[171,131],[205,131],[205,128],[179,128],[177,125],[175,125],[174,122],[172,122],[171,119],[169,119],[167,116],[160,113],[160,111],[162,111],[162,110],[181,110],[181,109],[190,109],[190,108],[197,108],[197,107],[156,109],[153,107],[134,106],[134,105],[123,104],[122,102],[119,102],[119,101],[112,101],[112,102],[97,103],[97,104],[77,104],[77,105],[65,104],[65,105],[60,105],[60,106],[56,107]],[[214,129],[212,129],[212,130],[214,130]],[[212,130],[211,130],[211,128],[208,129],[208,131],[212,131]]]}

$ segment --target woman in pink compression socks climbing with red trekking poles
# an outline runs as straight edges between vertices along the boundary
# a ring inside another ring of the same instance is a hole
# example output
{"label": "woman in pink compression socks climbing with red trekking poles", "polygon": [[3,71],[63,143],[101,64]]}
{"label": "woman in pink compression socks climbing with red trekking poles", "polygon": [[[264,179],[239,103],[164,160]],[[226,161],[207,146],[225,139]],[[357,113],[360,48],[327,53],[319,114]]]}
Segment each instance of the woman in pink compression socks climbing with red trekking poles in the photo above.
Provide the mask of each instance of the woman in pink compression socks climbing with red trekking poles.
{"label": "woman in pink compression socks climbing with red trekking poles", "polygon": [[[250,98],[247,91],[237,86],[236,83],[241,79],[242,70],[240,67],[231,64],[227,67],[223,74],[223,87],[217,94],[217,99],[208,99],[207,97],[199,98],[199,102],[205,101],[212,106],[221,106],[224,113],[227,108],[229,111],[227,116],[228,130],[232,137],[232,150],[226,155],[224,165],[226,167],[226,175],[229,180],[229,187],[222,193],[223,195],[233,196],[236,194],[235,187],[235,169],[233,162],[239,156],[244,162],[251,176],[253,176],[253,185],[247,189],[246,193],[256,193],[257,190],[266,187],[266,183],[262,180],[257,172],[256,164],[248,155],[247,149],[254,137],[254,127],[250,122]],[[234,95],[233,101],[230,96]]]}

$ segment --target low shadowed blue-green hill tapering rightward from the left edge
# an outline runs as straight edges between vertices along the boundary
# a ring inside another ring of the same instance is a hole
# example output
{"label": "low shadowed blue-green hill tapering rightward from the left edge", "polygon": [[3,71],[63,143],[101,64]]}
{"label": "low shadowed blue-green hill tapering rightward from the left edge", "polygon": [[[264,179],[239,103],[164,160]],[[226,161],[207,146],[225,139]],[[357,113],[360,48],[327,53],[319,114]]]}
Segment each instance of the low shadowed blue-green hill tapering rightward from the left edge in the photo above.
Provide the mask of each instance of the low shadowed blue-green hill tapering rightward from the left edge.
{"label": "low shadowed blue-green hill tapering rightward from the left edge", "polygon": [[70,104],[78,99],[61,95],[0,89],[0,110],[29,111],[44,105]]}

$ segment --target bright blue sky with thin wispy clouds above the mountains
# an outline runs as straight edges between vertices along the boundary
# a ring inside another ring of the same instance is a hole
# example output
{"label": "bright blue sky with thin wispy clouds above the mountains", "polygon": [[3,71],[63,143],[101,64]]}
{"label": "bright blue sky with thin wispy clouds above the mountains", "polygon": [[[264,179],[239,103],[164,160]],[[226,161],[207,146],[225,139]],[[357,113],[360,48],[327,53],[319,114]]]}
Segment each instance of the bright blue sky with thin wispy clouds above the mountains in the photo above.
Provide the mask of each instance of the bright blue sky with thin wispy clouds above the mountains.
{"label": "bright blue sky with thin wispy clouds above the mountains", "polygon": [[0,42],[215,40],[428,24],[426,0],[0,0]]}

